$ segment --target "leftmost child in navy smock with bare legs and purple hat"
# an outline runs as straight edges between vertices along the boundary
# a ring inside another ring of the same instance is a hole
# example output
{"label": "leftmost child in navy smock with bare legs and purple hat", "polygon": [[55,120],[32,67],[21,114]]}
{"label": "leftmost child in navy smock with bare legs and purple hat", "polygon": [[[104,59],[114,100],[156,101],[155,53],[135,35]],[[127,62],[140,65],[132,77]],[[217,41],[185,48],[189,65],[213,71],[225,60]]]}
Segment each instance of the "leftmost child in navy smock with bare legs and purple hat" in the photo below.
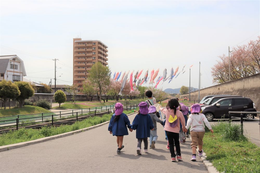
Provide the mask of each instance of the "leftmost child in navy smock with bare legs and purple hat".
{"label": "leftmost child in navy smock with bare legs and purple hat", "polygon": [[110,134],[113,134],[113,136],[116,136],[118,146],[117,154],[120,154],[121,149],[124,148],[122,144],[124,135],[128,135],[127,127],[130,128],[131,124],[127,115],[123,113],[123,105],[122,103],[116,103],[115,114],[113,114],[110,119],[108,131]]}

